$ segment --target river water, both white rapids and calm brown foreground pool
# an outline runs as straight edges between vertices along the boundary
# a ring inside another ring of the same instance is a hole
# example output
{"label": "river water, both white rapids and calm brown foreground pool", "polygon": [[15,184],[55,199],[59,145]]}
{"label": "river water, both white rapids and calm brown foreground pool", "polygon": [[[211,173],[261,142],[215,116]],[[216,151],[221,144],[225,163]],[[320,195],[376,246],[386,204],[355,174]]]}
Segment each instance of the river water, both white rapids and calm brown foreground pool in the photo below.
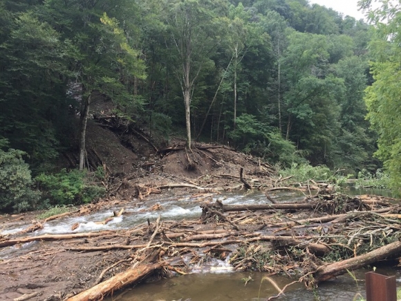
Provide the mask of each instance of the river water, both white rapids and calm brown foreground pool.
{"label": "river water, both white rapids and calm brown foreground pool", "polygon": [[[349,194],[384,194],[389,195],[386,190],[347,190]],[[373,192],[373,193],[372,193]],[[283,201],[300,201],[304,198],[304,194],[295,192],[277,192],[271,197],[277,202]],[[219,199],[225,204],[262,204],[266,203],[265,195],[258,193],[252,194],[221,194],[218,196],[212,195],[209,197],[215,201]],[[131,203],[124,208],[122,217],[113,219],[108,224],[97,224],[96,221],[102,221],[106,217],[113,215],[113,210],[120,208],[110,208],[82,217],[69,217],[62,221],[49,221],[44,225],[44,228],[35,235],[61,234],[72,232],[88,232],[93,230],[116,230],[132,228],[138,224],[142,224],[147,219],[154,221],[160,215],[161,219],[197,219],[201,216],[201,208],[199,205],[205,200],[205,196],[189,196],[177,199],[173,195],[163,199],[144,200]],[[150,210],[153,206],[160,204],[160,210]],[[71,230],[73,224],[79,223],[80,226]],[[23,230],[18,224],[10,225],[9,228],[3,228],[0,231],[1,235],[15,233]],[[32,243],[31,243],[32,244]],[[30,248],[30,244],[26,244],[23,248]],[[17,250],[6,248],[0,251],[0,259],[6,259],[12,255],[16,255]],[[286,294],[280,300],[357,300],[355,296],[365,295],[364,289],[364,273],[367,270],[360,269],[351,275],[342,275],[335,280],[330,280],[320,284],[315,291],[308,291],[302,284],[295,284],[286,290]],[[221,261],[211,262],[207,266],[203,266],[198,270],[194,269],[195,273],[183,275],[180,277],[172,277],[170,279],[161,280],[156,283],[144,283],[136,286],[134,289],[127,289],[115,294],[111,298],[104,300],[121,300],[121,301],[136,301],[136,300],[191,300],[191,301],[229,301],[229,300],[267,300],[268,297],[277,294],[277,289],[270,284],[268,280],[263,279],[265,273],[257,272],[234,272],[230,264]],[[393,266],[382,268],[381,273],[385,275],[396,275],[398,280],[401,280],[401,273]],[[245,285],[245,279],[249,281]],[[283,288],[286,284],[293,280],[288,277],[274,276],[270,279],[277,283],[277,286]],[[259,291],[260,290],[260,291]]]}

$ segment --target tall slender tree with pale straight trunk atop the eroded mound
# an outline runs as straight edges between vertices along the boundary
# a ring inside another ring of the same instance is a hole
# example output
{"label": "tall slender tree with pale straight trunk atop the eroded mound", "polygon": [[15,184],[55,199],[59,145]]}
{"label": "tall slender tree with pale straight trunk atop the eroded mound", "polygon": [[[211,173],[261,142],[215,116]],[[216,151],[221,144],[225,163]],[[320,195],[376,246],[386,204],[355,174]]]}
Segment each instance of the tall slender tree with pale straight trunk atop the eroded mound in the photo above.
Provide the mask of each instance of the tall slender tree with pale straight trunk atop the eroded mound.
{"label": "tall slender tree with pale straight trunk atop the eroded mound", "polygon": [[210,62],[219,43],[217,10],[219,1],[166,0],[166,44],[174,55],[174,73],[180,82],[185,105],[187,149],[192,147],[191,102],[201,69]]}

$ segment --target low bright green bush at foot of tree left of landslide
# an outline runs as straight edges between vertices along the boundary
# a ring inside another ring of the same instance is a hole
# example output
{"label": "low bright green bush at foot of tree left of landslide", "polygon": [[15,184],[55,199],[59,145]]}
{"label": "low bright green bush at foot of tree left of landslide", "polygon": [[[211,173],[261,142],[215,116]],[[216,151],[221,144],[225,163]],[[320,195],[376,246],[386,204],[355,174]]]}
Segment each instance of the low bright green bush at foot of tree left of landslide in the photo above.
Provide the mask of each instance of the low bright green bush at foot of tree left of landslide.
{"label": "low bright green bush at foot of tree left of landslide", "polygon": [[86,172],[62,170],[59,174],[39,174],[35,178],[44,197],[52,205],[89,203],[104,195],[105,189],[89,183]]}

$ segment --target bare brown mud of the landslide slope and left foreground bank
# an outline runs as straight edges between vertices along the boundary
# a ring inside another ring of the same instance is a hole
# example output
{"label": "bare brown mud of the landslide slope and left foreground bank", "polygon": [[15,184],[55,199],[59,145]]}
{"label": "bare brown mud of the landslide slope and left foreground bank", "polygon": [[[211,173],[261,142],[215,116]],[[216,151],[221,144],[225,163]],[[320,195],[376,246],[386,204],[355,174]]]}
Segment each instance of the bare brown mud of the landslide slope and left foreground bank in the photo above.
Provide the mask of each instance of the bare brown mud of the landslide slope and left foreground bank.
{"label": "bare brown mud of the landslide slope and left foreground bank", "polygon": [[[207,190],[216,193],[217,190],[243,190],[243,183],[239,179],[241,167],[244,168],[245,180],[252,187],[258,189],[272,185],[270,176],[274,169],[270,165],[229,147],[209,145],[208,148],[208,145],[196,145],[198,148],[194,148],[194,153],[190,155],[196,161],[196,167],[188,169],[187,153],[179,149],[183,146],[182,140],[174,139],[170,145],[160,143],[157,152],[155,145],[152,146],[142,135],[144,136],[143,133],[122,134],[121,131],[110,130],[104,123],[90,120],[87,134],[88,154],[92,156],[90,159],[93,165],[104,167],[106,179],[103,185],[109,193],[106,198],[88,206],[89,211],[116,205],[123,208],[124,203],[139,199],[146,201],[156,195],[162,198],[162,194],[179,196]],[[71,164],[76,163],[73,155],[68,154],[66,157]],[[178,187],[169,189],[171,185]],[[21,215],[2,215],[0,229],[8,228],[10,224],[28,228],[37,221],[38,214],[39,212],[28,212]],[[85,214],[85,210],[75,214]],[[27,235],[0,235],[0,241]],[[64,300],[67,295],[91,287],[104,268],[129,258],[132,250],[79,252],[68,250],[68,246],[85,246],[88,242],[94,243],[94,240],[95,244],[101,246],[115,237],[118,235],[112,233],[93,239],[35,241],[31,243],[29,251],[20,251],[21,244],[3,248],[7,248],[8,255],[5,259],[0,259],[0,299]],[[124,271],[127,266],[129,263],[116,266],[104,278]]]}

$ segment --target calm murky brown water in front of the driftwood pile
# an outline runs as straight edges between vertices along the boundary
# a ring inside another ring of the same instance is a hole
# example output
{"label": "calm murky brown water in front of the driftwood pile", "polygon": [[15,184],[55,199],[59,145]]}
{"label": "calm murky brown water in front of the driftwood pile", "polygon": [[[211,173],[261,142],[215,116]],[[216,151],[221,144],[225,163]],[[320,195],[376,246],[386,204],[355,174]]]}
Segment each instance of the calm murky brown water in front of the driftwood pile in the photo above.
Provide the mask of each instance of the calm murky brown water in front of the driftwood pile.
{"label": "calm murky brown water in front of the driftwood pile", "polygon": [[[365,295],[364,273],[355,272],[357,282],[351,276],[344,275],[337,279],[323,283],[316,291],[308,291],[302,284],[295,284],[286,290],[286,294],[278,300],[291,301],[345,301],[357,300],[355,297]],[[391,271],[383,270],[384,273]],[[244,279],[252,277],[252,280],[244,285]],[[157,283],[140,284],[133,289],[115,294],[113,298],[105,300],[120,301],[233,301],[248,300],[265,301],[270,296],[277,295],[277,290],[272,284],[263,280],[263,273],[196,273],[173,277]],[[279,287],[283,287],[291,280],[286,277],[272,277]],[[260,292],[259,292],[260,289]]]}

